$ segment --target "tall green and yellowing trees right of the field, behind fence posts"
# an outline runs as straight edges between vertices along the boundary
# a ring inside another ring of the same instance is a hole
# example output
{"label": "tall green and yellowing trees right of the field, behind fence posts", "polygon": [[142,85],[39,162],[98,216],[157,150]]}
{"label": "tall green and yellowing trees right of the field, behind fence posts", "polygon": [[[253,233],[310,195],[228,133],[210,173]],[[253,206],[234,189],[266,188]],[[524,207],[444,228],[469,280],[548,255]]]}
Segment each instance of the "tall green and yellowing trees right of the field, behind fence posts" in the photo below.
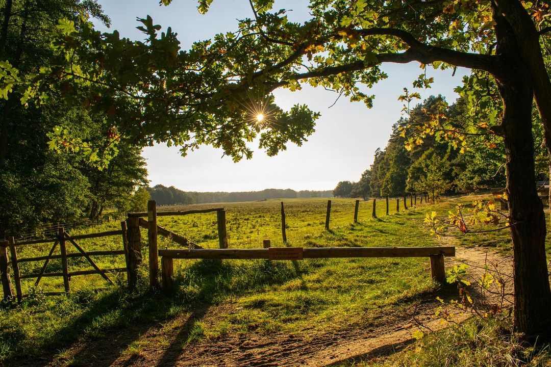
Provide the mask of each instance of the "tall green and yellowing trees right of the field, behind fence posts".
{"label": "tall green and yellowing trees right of the field, behind fence posts", "polygon": [[[443,194],[504,187],[503,139],[483,122],[473,120],[461,98],[445,109],[443,101],[442,96],[430,96],[408,111],[407,117],[393,125],[386,147],[375,151],[372,165],[358,182],[339,182],[333,195],[368,198],[428,193],[434,199]],[[454,128],[439,130],[437,119],[452,122]],[[436,133],[423,134],[423,129]],[[542,149],[541,129],[534,129],[533,134],[537,178],[547,179],[548,158]]]}

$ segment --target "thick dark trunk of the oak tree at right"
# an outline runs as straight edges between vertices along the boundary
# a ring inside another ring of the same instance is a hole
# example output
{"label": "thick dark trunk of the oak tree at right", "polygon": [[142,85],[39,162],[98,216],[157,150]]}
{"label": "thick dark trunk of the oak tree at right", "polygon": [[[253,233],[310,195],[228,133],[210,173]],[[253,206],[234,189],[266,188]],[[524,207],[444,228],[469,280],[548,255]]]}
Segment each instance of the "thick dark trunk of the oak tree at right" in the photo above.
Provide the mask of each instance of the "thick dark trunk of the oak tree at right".
{"label": "thick dark trunk of the oak tree at right", "polygon": [[[518,65],[518,64],[517,64]],[[551,291],[545,257],[545,215],[536,190],[532,136],[532,89],[513,68],[498,81],[504,103],[503,134],[514,256],[515,328],[527,336],[549,335]]]}

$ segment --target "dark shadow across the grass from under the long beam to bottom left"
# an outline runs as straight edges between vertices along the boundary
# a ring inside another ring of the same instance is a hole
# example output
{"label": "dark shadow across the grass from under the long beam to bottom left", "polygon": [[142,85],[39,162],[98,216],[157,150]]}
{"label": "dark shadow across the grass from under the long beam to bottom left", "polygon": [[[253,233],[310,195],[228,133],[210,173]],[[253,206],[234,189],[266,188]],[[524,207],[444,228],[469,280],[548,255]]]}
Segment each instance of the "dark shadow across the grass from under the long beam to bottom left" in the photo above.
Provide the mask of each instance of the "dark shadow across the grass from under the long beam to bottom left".
{"label": "dark shadow across the grass from under the long beam to bottom left", "polygon": [[[177,275],[172,292],[127,293],[112,289],[92,301],[75,300],[86,304],[83,313],[36,346],[39,352],[20,353],[5,361],[6,366],[71,365],[109,366],[141,336],[159,328],[160,322],[174,319],[191,311],[178,326],[179,331],[170,344],[161,350],[158,365],[176,363],[182,346],[190,337],[195,321],[207,314],[213,304],[228,294],[243,294],[270,284],[282,284],[301,274],[298,264],[256,261],[235,264],[231,261],[196,261]],[[88,293],[88,297],[89,297]],[[71,297],[78,298],[78,294]],[[85,295],[83,295],[85,298]],[[60,353],[64,350],[63,353]],[[132,357],[127,361],[132,363]]]}

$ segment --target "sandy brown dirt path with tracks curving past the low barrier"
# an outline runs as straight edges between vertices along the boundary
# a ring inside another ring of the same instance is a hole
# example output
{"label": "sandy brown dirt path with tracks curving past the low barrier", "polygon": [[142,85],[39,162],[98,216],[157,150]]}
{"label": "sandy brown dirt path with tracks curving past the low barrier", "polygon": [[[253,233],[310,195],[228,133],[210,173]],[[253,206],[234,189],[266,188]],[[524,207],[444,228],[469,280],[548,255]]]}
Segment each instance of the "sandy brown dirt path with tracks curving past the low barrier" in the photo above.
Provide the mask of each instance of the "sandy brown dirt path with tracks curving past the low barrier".
{"label": "sandy brown dirt path with tracks curving past the low barrier", "polygon": [[[447,244],[453,244],[448,241]],[[447,260],[446,267],[465,262],[469,273],[480,278],[485,264],[499,264],[504,276],[512,273],[511,259],[491,250],[457,247],[457,255]],[[512,283],[512,282],[508,282]],[[474,283],[473,283],[474,284]],[[473,287],[474,288],[474,287]],[[476,292],[476,288],[473,289]],[[506,292],[511,293],[507,288]],[[184,314],[165,325],[147,328],[129,326],[120,332],[113,332],[88,343],[77,343],[62,354],[62,357],[45,360],[18,361],[20,366],[57,366],[67,364],[86,366],[331,366],[356,358],[370,358],[392,353],[413,341],[412,333],[422,323],[431,330],[446,327],[442,320],[434,319],[434,312],[440,305],[436,295],[444,299],[457,298],[457,289],[442,288],[424,294],[408,302],[406,309],[398,306],[391,314],[381,315],[375,324],[347,328],[331,333],[300,335],[252,332],[247,336],[224,336],[203,339],[184,346],[194,320],[212,314],[208,307]],[[209,312],[207,312],[209,311]],[[217,314],[229,310],[217,310]],[[215,317],[215,316],[214,316]],[[457,321],[467,316],[456,317]],[[145,330],[143,333],[141,330]],[[137,342],[136,342],[137,341]],[[128,352],[128,345],[139,346]],[[123,352],[127,350],[127,352]]]}

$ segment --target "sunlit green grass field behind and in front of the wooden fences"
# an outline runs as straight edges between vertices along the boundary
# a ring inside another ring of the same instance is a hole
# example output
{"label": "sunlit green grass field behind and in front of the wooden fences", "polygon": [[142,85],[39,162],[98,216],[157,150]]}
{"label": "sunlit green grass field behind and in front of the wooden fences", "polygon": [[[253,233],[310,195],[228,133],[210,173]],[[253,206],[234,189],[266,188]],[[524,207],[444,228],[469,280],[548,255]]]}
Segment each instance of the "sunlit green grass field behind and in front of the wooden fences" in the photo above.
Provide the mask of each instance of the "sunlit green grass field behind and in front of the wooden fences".
{"label": "sunlit green grass field behind and in front of the wooden fences", "polygon": [[[287,217],[287,238],[291,246],[302,247],[379,247],[434,246],[438,241],[423,227],[426,212],[445,214],[458,202],[469,198],[442,201],[396,213],[391,200],[385,215],[385,201],[377,200],[377,217],[371,218],[372,201],[361,201],[359,222],[353,224],[354,200],[333,199],[331,230],[325,231],[326,199],[283,200]],[[263,239],[272,246],[283,246],[280,201],[195,205],[192,207],[226,209],[230,248],[261,248]],[[409,206],[409,200],[408,200]],[[160,207],[158,210],[188,209]],[[184,235],[206,248],[218,247],[215,213],[159,217],[159,224]],[[119,222],[100,224],[70,234],[90,233],[120,228]],[[507,249],[507,232],[488,237]],[[476,237],[476,236],[473,236]],[[461,239],[472,245],[479,238]],[[147,238],[143,231],[142,238]],[[120,237],[80,240],[85,250],[122,249]],[[69,251],[76,251],[71,245]],[[20,257],[47,254],[51,247],[20,247]],[[177,245],[159,237],[159,248]],[[143,249],[144,259],[147,249]],[[95,259],[101,268],[124,266],[123,256]],[[147,262],[147,261],[145,261]],[[37,272],[41,263],[21,267],[23,274]],[[48,271],[60,271],[52,260]],[[69,270],[90,269],[83,258],[69,259]],[[98,275],[73,277],[69,297],[44,297],[41,291],[61,291],[61,278],[44,278],[41,289],[23,304],[4,303],[0,308],[0,359],[46,350],[63,351],[75,339],[100,337],[113,327],[139,322],[166,322],[179,313],[207,308],[232,312],[215,322],[197,317],[186,343],[228,333],[245,335],[259,332],[323,332],[351,326],[369,325],[386,310],[410,302],[430,292],[428,259],[311,259],[302,261],[175,260],[176,290],[167,294],[148,292],[147,269],[141,269],[139,291],[125,291],[123,275],[115,277],[118,286],[107,286]],[[24,283],[29,292],[31,282]]]}

